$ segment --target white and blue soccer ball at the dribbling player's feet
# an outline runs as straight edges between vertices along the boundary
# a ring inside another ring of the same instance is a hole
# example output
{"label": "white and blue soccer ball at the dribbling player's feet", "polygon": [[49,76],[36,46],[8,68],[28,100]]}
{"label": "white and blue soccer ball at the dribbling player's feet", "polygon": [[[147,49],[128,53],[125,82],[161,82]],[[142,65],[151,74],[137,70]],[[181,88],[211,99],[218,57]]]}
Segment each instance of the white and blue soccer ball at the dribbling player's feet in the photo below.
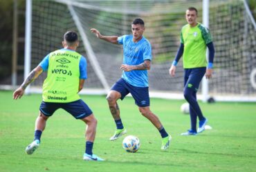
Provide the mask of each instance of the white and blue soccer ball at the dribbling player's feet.
{"label": "white and blue soccer ball at the dribbling player's feet", "polygon": [[140,148],[140,140],[136,136],[127,136],[122,140],[122,147],[125,151],[134,153]]}

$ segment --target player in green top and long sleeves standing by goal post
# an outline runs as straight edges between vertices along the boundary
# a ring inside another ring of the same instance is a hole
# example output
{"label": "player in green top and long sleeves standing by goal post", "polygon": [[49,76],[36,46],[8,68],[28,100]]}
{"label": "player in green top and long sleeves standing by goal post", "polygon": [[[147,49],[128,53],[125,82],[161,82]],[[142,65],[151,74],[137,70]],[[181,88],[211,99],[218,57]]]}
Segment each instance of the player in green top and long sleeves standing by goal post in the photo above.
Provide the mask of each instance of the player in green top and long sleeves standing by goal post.
{"label": "player in green top and long sleeves standing by goal post", "polygon": [[[204,130],[208,121],[202,114],[199,104],[196,100],[196,92],[203,76],[212,77],[212,67],[214,58],[214,45],[208,28],[196,21],[196,8],[188,8],[185,12],[185,18],[188,22],[181,29],[181,45],[176,57],[170,67],[169,73],[175,75],[176,65],[181,56],[183,56],[184,68],[184,90],[185,100],[190,104],[191,128],[181,133],[183,136],[196,135]],[[209,49],[209,60],[207,63],[205,54],[206,47]],[[196,120],[199,118],[199,128],[196,131]]]}

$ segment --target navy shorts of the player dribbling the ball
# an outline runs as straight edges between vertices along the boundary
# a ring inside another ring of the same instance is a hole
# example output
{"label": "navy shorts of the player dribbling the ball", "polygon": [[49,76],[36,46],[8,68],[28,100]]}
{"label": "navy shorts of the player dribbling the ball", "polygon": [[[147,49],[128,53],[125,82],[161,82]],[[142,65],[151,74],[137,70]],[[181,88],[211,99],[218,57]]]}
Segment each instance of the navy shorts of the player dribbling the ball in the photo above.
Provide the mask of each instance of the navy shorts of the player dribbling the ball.
{"label": "navy shorts of the player dribbling the ball", "polygon": [[149,106],[149,87],[135,87],[130,85],[123,78],[120,78],[116,83],[111,87],[111,90],[120,92],[121,100],[131,93],[131,96],[135,100],[135,104],[138,107],[148,107]]}

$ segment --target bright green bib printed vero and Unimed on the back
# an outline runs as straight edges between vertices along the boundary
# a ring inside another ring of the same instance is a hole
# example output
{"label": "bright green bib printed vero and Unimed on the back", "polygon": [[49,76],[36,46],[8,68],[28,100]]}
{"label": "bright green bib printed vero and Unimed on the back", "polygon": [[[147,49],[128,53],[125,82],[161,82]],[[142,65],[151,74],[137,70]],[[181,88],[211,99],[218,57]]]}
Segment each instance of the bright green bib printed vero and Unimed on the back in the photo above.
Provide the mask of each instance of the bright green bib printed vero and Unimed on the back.
{"label": "bright green bib printed vero and Unimed on the back", "polygon": [[47,77],[43,85],[43,100],[51,103],[69,103],[79,100],[81,55],[75,51],[51,52]]}

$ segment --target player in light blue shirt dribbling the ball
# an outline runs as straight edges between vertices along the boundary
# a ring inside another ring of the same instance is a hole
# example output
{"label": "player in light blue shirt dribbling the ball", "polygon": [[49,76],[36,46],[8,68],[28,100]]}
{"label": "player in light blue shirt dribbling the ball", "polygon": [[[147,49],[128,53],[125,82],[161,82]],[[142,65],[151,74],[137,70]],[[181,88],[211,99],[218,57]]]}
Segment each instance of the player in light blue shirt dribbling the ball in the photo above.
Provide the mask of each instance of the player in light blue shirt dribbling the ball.
{"label": "player in light blue shirt dribbling the ball", "polygon": [[165,131],[158,117],[149,109],[149,87],[147,70],[150,69],[152,61],[152,48],[143,36],[145,31],[144,21],[134,19],[131,23],[132,35],[103,36],[96,29],[91,29],[99,39],[109,43],[121,44],[123,46],[122,77],[111,87],[107,95],[109,109],[116,122],[116,131],[110,140],[116,140],[127,131],[122,125],[120,109],[117,100],[124,99],[127,94],[133,96],[140,113],[145,116],[158,129],[162,137],[161,149],[168,149],[172,137]]}

